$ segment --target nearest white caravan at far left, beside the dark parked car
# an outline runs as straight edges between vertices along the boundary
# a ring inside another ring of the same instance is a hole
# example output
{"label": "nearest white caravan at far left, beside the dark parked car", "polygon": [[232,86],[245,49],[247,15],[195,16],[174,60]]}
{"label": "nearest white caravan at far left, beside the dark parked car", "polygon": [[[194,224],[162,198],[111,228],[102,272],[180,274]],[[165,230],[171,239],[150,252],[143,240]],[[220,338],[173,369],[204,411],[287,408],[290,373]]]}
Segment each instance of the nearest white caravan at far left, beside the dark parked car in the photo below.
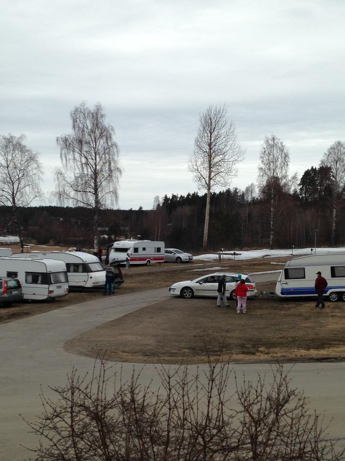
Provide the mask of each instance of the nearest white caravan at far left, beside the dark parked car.
{"label": "nearest white caravan at far left, beside the dark parked car", "polygon": [[0,275],[18,279],[24,299],[37,301],[68,293],[66,266],[54,259],[0,258]]}

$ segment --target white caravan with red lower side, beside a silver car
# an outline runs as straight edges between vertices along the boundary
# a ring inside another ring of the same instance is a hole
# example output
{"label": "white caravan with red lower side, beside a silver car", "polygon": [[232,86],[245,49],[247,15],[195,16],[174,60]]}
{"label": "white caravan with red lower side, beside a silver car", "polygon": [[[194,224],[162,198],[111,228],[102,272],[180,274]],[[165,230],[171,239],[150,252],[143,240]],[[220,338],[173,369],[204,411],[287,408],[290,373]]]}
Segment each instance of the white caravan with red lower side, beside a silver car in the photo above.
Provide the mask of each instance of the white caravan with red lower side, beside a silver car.
{"label": "white caravan with red lower side, beside a silver car", "polygon": [[120,240],[108,245],[105,261],[109,264],[150,264],[164,262],[164,242],[152,240]]}

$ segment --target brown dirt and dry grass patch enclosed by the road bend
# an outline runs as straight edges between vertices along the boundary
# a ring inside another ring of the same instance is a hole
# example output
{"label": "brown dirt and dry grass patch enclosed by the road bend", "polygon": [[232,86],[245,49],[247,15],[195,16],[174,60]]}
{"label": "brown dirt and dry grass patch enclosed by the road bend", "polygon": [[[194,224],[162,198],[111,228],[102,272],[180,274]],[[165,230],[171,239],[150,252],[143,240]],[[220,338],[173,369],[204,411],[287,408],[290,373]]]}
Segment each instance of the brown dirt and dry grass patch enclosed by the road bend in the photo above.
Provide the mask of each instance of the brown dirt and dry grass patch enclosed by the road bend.
{"label": "brown dirt and dry grass patch enclosed by the road bend", "polygon": [[345,358],[343,303],[317,309],[313,300],[259,297],[238,314],[234,302],[230,309],[218,309],[215,301],[172,297],[88,331],[65,348],[135,363],[202,363],[206,350],[213,359],[223,350],[223,359],[230,356],[233,362]]}

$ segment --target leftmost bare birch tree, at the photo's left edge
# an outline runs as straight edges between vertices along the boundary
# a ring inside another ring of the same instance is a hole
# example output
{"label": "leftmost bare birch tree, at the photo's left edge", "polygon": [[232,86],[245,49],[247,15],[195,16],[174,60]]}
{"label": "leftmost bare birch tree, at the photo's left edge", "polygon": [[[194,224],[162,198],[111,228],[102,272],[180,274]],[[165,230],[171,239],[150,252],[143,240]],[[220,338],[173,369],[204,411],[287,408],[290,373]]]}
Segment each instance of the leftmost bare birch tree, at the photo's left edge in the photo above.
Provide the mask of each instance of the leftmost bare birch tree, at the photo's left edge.
{"label": "leftmost bare birch tree, at the photo's left edge", "polygon": [[0,136],[0,203],[12,208],[13,223],[24,252],[18,206],[29,206],[41,197],[42,166],[39,154],[24,144],[25,136]]}

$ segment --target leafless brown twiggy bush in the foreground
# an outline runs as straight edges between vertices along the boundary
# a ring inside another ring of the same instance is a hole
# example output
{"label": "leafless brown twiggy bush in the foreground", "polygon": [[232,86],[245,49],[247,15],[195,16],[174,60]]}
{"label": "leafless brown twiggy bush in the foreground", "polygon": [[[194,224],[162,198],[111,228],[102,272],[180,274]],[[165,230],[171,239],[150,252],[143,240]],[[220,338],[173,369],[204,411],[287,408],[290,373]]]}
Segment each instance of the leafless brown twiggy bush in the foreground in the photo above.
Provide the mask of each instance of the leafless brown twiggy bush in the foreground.
{"label": "leafless brown twiggy bush in the foreground", "polygon": [[43,413],[28,422],[40,443],[36,461],[299,461],[340,460],[304,393],[290,386],[283,367],[270,384],[236,380],[227,396],[229,364],[209,361],[191,376],[187,367],[157,368],[160,388],[123,383],[104,360],[93,374],[76,370],[65,387],[42,395]]}

